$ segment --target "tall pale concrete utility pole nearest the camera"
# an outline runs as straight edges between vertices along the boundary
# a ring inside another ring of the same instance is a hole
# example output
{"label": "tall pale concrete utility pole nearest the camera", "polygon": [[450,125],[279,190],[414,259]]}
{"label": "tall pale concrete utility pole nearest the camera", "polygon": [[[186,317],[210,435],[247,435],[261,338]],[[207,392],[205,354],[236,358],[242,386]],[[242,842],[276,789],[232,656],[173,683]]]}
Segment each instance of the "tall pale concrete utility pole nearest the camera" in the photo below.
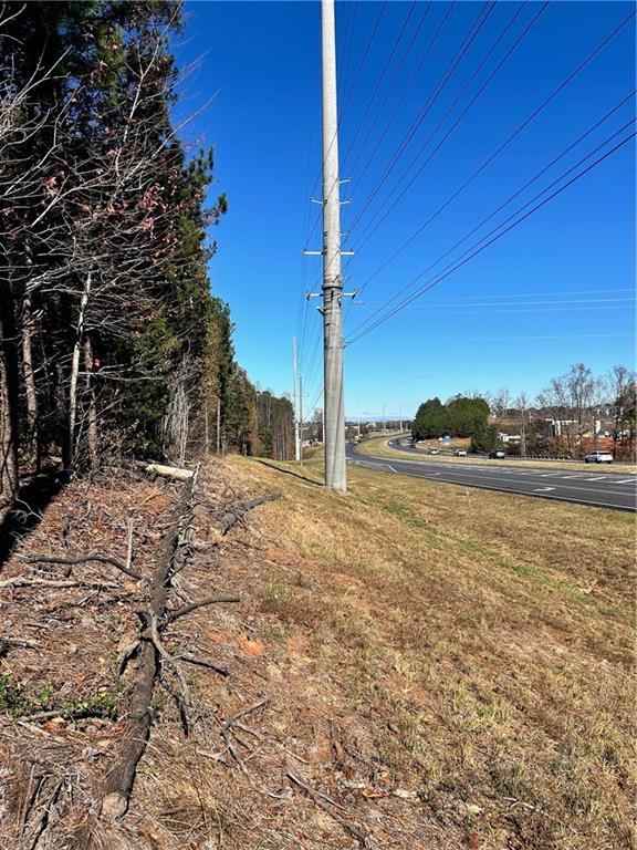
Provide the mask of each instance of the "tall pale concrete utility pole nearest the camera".
{"label": "tall pale concrete utility pole nearest the camera", "polygon": [[343,395],[343,281],[334,0],[321,0],[323,56],[323,348],[325,485],[347,489]]}

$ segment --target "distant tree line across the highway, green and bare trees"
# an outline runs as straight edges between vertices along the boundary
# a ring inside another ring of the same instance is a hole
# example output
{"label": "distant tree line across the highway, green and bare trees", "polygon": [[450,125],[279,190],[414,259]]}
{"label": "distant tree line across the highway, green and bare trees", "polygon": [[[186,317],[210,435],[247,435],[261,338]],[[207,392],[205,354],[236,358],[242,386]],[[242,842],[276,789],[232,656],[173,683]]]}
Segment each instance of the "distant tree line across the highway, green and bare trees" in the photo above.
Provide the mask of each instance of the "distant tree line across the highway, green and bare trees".
{"label": "distant tree line across the highway, green and bare trees", "polygon": [[[503,445],[500,434],[513,434],[512,454],[581,456],[604,443],[617,458],[635,458],[637,438],[637,382],[623,365],[595,376],[576,363],[552,379],[532,398],[508,390],[424,402],[413,426],[415,439],[445,434],[471,437],[471,448],[485,452]],[[605,436],[607,435],[607,436]]]}

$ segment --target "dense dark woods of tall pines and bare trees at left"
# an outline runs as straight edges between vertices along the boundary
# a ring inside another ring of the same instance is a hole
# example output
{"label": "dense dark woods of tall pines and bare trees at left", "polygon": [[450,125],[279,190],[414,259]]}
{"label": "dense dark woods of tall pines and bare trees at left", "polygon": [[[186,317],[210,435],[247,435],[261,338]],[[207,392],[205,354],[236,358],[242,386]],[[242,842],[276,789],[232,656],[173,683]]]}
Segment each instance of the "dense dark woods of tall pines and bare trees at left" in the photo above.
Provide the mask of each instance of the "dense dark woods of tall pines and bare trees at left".
{"label": "dense dark woods of tall pines and bare trees at left", "polygon": [[179,28],[168,2],[0,9],[0,507],[48,457],[289,452],[210,294],[227,200],[171,120]]}

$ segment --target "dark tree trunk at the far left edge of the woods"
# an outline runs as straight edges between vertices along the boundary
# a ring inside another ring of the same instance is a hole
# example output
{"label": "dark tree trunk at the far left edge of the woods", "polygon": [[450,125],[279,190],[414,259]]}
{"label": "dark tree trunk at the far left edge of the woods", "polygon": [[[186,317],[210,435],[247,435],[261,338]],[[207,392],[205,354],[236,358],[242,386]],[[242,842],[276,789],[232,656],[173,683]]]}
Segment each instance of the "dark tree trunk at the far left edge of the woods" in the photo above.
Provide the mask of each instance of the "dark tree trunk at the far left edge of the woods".
{"label": "dark tree trunk at the far left edge of the woods", "polygon": [[15,309],[11,292],[6,292],[0,303],[0,510],[13,505],[18,484]]}

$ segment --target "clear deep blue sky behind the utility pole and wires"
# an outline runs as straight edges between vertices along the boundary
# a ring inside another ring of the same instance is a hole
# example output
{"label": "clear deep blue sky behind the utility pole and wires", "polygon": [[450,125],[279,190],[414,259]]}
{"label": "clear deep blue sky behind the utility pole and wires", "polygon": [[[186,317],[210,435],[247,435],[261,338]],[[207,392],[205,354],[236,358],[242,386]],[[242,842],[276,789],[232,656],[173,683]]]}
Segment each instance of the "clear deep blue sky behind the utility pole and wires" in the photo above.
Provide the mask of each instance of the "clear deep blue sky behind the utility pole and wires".
{"label": "clear deep blue sky behind the utility pole and wires", "polygon": [[[631,126],[622,128],[635,115],[634,19],[450,200],[633,9],[624,2],[552,2],[543,11],[535,2],[336,3],[341,175],[352,179],[343,186],[351,204],[342,229],[352,230],[344,247],[356,250],[344,262],[345,286],[363,287],[362,303],[346,305],[348,416],[383,408],[411,415],[430,396],[501,386],[534,395],[579,361],[596,374],[617,363],[634,367],[634,141],[354,339],[418,274],[431,267],[419,284],[435,281],[509,216],[546,197],[524,207],[539,193],[557,180],[547,194],[555,191],[630,135]],[[215,146],[212,191],[229,199],[213,232],[212,290],[230,303],[237,357],[251,380],[290,392],[296,335],[305,407],[321,405],[317,301],[306,308],[302,298],[306,289],[318,291],[321,279],[320,259],[302,256],[304,247],[321,247],[321,208],[310,203],[311,194],[321,197],[320,4],[190,2],[186,14],[175,45],[179,66],[188,69],[179,113],[207,104],[185,135]]]}

